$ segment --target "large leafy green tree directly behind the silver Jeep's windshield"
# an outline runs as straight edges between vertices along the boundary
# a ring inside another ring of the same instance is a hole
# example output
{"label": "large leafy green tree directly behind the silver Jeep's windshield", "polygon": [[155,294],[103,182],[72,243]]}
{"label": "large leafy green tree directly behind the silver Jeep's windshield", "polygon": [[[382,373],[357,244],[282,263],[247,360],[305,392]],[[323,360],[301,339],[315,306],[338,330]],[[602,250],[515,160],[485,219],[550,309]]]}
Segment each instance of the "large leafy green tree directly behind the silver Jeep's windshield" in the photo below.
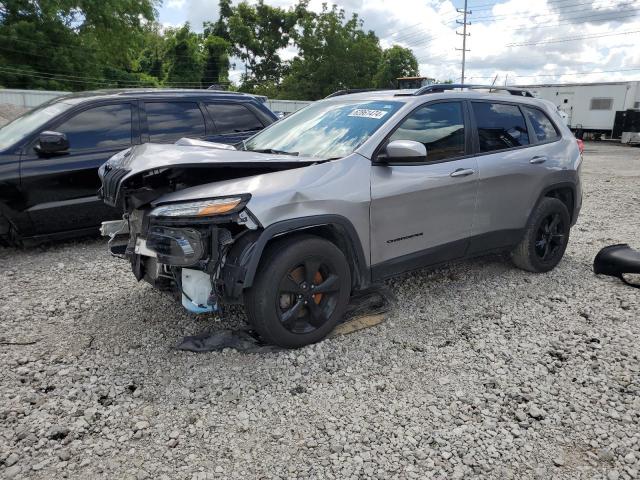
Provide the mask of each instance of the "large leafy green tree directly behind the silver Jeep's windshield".
{"label": "large leafy green tree directly behind the silver Jeep's windshield", "polygon": [[370,88],[382,58],[378,37],[362,30],[357,15],[323,5],[305,12],[296,44],[299,53],[282,82],[281,98],[316,100],[343,88]]}

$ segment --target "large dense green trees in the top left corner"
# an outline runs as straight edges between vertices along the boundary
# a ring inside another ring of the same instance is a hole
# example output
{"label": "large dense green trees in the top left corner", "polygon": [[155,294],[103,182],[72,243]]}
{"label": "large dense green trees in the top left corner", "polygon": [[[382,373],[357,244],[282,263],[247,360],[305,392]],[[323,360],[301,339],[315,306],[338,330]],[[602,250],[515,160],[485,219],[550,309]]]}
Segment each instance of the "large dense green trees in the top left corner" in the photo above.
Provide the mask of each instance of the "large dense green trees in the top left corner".
{"label": "large dense green trees in the top left corner", "polygon": [[156,3],[0,2],[0,84],[71,90],[111,85],[104,69],[132,72],[142,25],[154,19]]}

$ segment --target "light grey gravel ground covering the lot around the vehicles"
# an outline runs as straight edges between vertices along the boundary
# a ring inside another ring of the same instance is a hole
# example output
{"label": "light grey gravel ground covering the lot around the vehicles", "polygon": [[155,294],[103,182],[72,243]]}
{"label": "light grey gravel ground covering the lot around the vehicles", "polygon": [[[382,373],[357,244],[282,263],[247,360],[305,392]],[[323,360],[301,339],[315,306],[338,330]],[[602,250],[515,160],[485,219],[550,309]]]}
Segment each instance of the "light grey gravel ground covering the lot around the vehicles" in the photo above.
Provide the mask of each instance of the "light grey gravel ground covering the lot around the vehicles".
{"label": "light grey gravel ground covering the lot around the vehicles", "polygon": [[103,241],[0,250],[0,477],[638,478],[640,149],[590,144],[548,274],[500,257],[389,282],[380,326],[297,351],[192,354],[236,326],[135,282]]}

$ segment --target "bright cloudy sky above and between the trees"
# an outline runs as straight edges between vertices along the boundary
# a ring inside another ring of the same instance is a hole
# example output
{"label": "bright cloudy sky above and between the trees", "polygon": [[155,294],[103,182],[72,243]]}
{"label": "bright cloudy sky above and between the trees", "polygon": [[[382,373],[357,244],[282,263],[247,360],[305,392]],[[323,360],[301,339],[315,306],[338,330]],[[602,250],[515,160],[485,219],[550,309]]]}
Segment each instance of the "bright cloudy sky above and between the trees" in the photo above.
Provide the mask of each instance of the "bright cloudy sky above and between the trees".
{"label": "bright cloudy sky above and between the trees", "polygon": [[[320,11],[323,0],[311,0]],[[235,3],[235,2],[234,2]],[[266,0],[288,8],[293,0]],[[327,2],[331,3],[331,2]],[[340,0],[347,13],[358,13],[384,48],[411,48],[420,74],[460,81],[464,0]],[[468,0],[465,81],[503,85],[640,80],[640,0]],[[160,22],[218,18],[217,0],[164,0]],[[295,56],[295,48],[282,52]],[[235,61],[231,80],[242,64]],[[496,79],[497,76],[497,79]]]}

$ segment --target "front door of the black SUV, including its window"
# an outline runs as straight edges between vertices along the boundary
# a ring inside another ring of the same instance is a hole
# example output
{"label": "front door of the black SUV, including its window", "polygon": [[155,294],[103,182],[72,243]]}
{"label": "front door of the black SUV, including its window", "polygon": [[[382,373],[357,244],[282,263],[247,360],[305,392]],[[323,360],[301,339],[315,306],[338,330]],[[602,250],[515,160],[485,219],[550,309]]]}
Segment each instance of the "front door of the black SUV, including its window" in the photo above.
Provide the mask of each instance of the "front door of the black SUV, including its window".
{"label": "front door of the black SUV, including its window", "polygon": [[98,199],[98,167],[115,153],[139,143],[135,102],[100,103],[75,110],[46,127],[62,132],[69,150],[38,154],[37,135],[20,162],[21,189],[34,232],[47,234],[98,226],[118,212]]}

